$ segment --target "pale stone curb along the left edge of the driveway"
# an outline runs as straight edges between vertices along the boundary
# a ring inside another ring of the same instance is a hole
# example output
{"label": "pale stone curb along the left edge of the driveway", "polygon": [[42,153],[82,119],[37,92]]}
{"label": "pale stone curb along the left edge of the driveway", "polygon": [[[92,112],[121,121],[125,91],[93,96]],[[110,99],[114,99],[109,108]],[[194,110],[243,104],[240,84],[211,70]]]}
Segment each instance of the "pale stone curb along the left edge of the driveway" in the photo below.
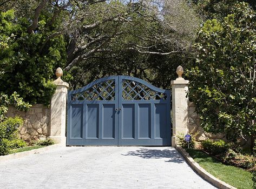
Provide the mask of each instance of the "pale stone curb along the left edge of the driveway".
{"label": "pale stone curb along the left edge of the driveway", "polygon": [[11,160],[11,159],[22,158],[22,157],[25,157],[25,156],[30,156],[31,154],[34,154],[34,153],[45,152],[45,151],[48,151],[48,150],[56,149],[57,147],[61,147],[61,146],[63,146],[63,145],[54,144],[54,145],[51,145],[51,146],[42,147],[40,149],[34,149],[34,150],[30,150],[30,151],[25,151],[25,152],[12,153],[12,154],[9,154],[9,155],[6,155],[6,156],[0,156],[0,162]]}

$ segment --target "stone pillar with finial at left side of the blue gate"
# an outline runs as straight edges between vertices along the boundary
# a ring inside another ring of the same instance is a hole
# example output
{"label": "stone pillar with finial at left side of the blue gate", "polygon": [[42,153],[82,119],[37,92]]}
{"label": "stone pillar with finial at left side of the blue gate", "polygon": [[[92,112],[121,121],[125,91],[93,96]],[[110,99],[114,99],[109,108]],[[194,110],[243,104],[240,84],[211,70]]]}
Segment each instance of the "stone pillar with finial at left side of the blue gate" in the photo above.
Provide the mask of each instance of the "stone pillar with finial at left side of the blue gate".
{"label": "stone pillar with finial at left side of the blue gate", "polygon": [[65,146],[66,105],[69,84],[63,82],[61,79],[61,76],[63,75],[61,68],[57,68],[55,74],[57,79],[54,81],[54,84],[57,85],[57,89],[51,98],[49,138],[54,139],[56,143],[61,143]]}

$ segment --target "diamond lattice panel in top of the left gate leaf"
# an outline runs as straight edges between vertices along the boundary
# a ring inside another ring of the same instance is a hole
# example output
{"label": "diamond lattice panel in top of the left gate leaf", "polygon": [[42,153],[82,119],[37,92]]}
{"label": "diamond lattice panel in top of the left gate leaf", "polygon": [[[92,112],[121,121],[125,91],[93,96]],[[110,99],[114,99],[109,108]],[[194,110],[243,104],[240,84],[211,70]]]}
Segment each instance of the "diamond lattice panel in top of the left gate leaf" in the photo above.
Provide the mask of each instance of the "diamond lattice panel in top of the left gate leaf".
{"label": "diamond lattice panel in top of the left gate leaf", "polygon": [[72,95],[72,100],[115,100],[115,80],[93,85],[86,91]]}

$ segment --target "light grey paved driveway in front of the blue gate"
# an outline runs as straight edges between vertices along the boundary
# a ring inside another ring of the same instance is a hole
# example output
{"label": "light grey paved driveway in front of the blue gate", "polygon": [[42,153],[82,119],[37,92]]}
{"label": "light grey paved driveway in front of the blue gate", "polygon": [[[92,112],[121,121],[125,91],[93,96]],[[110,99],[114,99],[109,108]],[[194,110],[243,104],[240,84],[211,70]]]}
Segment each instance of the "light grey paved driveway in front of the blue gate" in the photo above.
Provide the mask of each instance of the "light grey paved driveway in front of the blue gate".
{"label": "light grey paved driveway in front of the blue gate", "polygon": [[60,147],[0,163],[0,188],[215,188],[173,147]]}

